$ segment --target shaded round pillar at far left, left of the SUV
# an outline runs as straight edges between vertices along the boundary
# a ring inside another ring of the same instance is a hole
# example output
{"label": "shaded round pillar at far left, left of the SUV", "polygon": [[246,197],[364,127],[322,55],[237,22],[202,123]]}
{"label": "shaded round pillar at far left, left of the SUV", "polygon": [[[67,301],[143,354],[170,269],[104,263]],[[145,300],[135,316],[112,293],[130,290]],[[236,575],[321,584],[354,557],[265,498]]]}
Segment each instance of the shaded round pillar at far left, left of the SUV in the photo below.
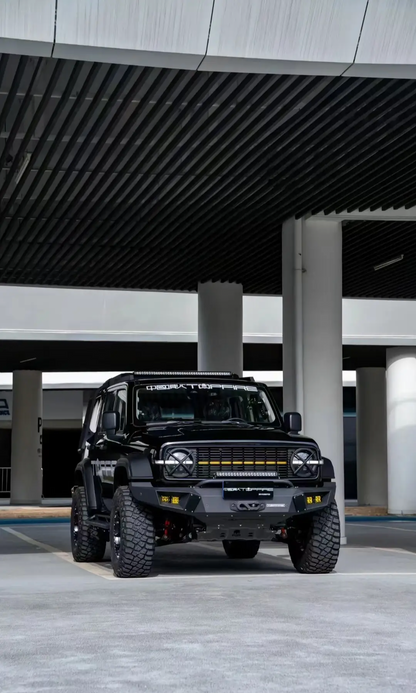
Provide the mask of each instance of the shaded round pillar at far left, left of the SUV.
{"label": "shaded round pillar at far left, left of the SUV", "polygon": [[13,373],[10,503],[36,505],[41,498],[42,373],[16,371]]}

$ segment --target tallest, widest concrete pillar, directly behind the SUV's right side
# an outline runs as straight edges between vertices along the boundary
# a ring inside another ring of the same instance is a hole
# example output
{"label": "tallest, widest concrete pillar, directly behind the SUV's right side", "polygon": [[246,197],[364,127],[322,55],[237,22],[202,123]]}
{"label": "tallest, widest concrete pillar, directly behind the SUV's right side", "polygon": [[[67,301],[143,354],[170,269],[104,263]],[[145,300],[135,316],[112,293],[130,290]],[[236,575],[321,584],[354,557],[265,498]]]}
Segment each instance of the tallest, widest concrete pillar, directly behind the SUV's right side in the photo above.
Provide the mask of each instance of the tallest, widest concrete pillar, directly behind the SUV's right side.
{"label": "tallest, widest concrete pillar, directly behind the SUV's right side", "polygon": [[344,538],[341,223],[285,222],[282,256],[284,409],[334,465]]}

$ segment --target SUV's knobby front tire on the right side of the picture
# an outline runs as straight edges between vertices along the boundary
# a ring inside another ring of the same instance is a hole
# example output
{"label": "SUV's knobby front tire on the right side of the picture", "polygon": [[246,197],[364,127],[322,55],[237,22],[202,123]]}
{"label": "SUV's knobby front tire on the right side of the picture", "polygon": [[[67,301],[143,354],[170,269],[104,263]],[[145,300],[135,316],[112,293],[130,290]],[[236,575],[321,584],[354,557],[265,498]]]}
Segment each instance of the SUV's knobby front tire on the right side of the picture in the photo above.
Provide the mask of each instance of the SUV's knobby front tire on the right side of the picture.
{"label": "SUV's knobby front tire on the right side of the picture", "polygon": [[341,530],[335,501],[319,512],[298,518],[288,530],[288,547],[298,573],[331,573],[339,556]]}

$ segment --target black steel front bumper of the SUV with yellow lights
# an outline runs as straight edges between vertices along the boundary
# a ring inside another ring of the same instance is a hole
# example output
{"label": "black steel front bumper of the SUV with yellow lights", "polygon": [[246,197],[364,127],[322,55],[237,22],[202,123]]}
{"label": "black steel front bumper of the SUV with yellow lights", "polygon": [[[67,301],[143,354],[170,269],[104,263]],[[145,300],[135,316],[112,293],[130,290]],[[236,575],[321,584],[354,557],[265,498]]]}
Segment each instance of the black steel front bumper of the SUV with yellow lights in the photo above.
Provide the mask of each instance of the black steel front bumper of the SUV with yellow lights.
{"label": "black steel front bumper of the SUV with yellow lights", "polygon": [[[241,480],[236,479],[238,486]],[[245,482],[250,481],[245,479]],[[253,480],[253,486],[258,484]],[[335,483],[293,486],[288,481],[267,480],[272,497],[224,498],[220,481],[202,481],[189,487],[153,486],[132,481],[132,496],[153,511],[192,518],[201,539],[269,539],[291,517],[316,512],[335,499]],[[253,534],[254,532],[254,534]]]}

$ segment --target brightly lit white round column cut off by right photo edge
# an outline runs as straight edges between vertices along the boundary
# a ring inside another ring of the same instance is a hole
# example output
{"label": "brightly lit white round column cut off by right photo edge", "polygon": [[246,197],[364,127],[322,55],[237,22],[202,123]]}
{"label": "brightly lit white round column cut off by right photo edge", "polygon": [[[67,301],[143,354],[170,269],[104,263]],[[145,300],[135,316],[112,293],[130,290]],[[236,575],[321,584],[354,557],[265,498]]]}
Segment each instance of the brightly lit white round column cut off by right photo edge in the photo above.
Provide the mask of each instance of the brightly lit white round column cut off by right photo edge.
{"label": "brightly lit white round column cut off by right photo edge", "polygon": [[387,349],[388,512],[416,514],[416,349]]}

